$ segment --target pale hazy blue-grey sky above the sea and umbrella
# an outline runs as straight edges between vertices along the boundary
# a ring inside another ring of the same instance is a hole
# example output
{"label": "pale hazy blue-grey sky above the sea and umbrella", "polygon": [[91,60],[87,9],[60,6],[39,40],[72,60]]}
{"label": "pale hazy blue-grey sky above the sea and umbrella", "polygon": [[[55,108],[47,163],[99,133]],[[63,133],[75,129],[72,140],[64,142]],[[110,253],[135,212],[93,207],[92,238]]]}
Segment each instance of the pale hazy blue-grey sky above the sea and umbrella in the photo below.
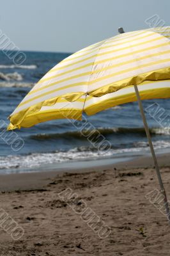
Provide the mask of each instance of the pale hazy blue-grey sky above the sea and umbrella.
{"label": "pale hazy blue-grey sky above the sea and umbrella", "polygon": [[21,50],[75,52],[125,31],[149,28],[157,14],[170,25],[169,0],[6,0],[0,29]]}

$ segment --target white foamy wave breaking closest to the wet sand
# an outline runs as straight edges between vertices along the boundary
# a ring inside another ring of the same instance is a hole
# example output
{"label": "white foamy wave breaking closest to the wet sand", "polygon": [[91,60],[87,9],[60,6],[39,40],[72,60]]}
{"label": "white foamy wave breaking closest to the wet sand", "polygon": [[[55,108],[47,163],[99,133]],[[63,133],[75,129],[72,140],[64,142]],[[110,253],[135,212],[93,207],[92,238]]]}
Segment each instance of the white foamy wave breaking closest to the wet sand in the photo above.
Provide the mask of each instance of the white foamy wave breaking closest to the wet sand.
{"label": "white foamy wave breaking closest to the wet sand", "polygon": [[[98,151],[97,149],[91,149],[91,147],[77,147],[66,152],[56,151],[50,153],[34,153],[27,155],[19,156],[1,156],[0,157],[0,169],[9,170],[9,169],[26,169],[26,168],[36,168],[44,164],[54,164],[54,163],[63,163],[69,161],[80,161],[80,160],[94,160],[113,157],[116,154],[123,153],[137,153],[149,150],[148,143],[139,141],[134,143],[135,147],[130,148],[119,148],[119,149],[109,149],[104,151]],[[170,147],[170,141],[153,141],[153,146],[155,149],[168,148]],[[119,155],[120,156],[120,155]],[[23,171],[23,170],[22,170]]]}

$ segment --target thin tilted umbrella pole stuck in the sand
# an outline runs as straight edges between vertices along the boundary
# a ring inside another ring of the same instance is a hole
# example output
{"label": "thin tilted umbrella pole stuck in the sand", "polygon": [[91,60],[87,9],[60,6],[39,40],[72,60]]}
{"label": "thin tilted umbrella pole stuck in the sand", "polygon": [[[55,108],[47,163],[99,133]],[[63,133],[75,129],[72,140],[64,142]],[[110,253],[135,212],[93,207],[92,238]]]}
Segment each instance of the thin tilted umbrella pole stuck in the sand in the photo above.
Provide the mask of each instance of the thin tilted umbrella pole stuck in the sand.
{"label": "thin tilted umbrella pole stuck in the sand", "polygon": [[160,170],[159,170],[159,166],[158,166],[158,162],[157,162],[157,157],[155,155],[155,150],[153,148],[153,144],[152,144],[152,141],[151,141],[151,136],[150,136],[150,131],[149,131],[149,128],[148,128],[148,124],[147,124],[147,121],[146,121],[146,116],[144,115],[144,110],[143,110],[143,104],[142,104],[142,101],[141,101],[141,97],[140,97],[140,94],[139,94],[139,90],[137,88],[137,85],[134,85],[134,88],[135,88],[135,94],[137,96],[137,100],[138,100],[138,104],[139,104],[139,108],[140,108],[140,111],[141,111],[141,116],[143,118],[143,124],[144,124],[144,129],[146,131],[146,136],[148,138],[148,143],[150,145],[150,150],[151,150],[151,155],[153,157],[153,162],[155,164],[155,169],[157,171],[157,177],[158,177],[158,182],[160,184],[160,191],[162,193],[162,195],[164,196],[164,205],[165,205],[165,208],[166,208],[166,214],[167,214],[167,220],[169,221],[170,223],[170,211],[169,211],[169,204],[167,202],[167,196],[166,196],[166,191],[164,189],[164,184],[162,182],[162,177],[160,175]]}

